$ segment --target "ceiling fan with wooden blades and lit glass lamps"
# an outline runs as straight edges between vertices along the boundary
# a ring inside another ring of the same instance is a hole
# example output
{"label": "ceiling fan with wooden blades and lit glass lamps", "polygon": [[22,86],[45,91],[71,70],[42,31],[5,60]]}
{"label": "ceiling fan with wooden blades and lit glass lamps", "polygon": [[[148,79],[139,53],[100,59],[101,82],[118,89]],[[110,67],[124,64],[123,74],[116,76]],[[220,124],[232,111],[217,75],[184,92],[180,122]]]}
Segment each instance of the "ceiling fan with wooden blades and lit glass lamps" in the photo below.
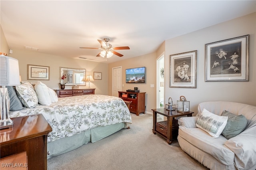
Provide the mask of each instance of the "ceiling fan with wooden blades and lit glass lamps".
{"label": "ceiling fan with wooden blades and lit glass lamps", "polygon": [[100,53],[98,53],[98,55],[96,55],[97,57],[104,57],[104,58],[109,58],[112,57],[113,54],[118,55],[119,57],[122,57],[124,55],[114,51],[114,50],[119,50],[119,49],[130,49],[130,47],[128,46],[124,46],[124,47],[112,47],[112,45],[110,43],[108,43],[109,38],[104,38],[102,40],[98,40],[98,42],[100,43],[100,48],[94,48],[94,47],[80,47],[80,48],[85,48],[85,49],[103,49],[103,51],[101,51]]}

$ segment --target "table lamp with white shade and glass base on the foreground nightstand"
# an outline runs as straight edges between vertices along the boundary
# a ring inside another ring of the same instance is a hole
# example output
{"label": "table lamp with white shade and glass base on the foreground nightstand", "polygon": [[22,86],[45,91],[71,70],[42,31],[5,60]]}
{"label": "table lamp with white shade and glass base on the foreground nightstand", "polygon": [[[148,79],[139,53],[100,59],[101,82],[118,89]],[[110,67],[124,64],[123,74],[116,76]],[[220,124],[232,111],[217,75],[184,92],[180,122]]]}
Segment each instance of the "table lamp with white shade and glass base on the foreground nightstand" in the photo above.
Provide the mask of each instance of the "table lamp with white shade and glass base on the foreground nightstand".
{"label": "table lamp with white shade and glass base on the foreground nightstand", "polygon": [[10,97],[6,86],[20,85],[19,63],[17,59],[0,55],[0,129],[12,128],[9,118]]}

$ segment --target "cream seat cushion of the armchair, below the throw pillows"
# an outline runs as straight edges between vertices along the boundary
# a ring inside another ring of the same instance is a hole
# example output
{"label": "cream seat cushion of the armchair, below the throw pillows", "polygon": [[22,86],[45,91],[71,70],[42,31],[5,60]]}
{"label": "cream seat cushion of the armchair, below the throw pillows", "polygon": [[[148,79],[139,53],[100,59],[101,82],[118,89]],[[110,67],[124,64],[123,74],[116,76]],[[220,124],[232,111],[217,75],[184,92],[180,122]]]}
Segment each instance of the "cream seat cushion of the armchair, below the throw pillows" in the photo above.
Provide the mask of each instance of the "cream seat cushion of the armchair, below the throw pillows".
{"label": "cream seat cushion of the armchair, below the throw pillows", "polygon": [[[218,138],[213,138],[207,132],[200,128],[179,127],[179,137],[191,143],[196,148],[212,155],[216,160],[225,165],[234,164],[234,152],[224,145],[227,140],[220,135]],[[196,154],[196,153],[194,153]]]}

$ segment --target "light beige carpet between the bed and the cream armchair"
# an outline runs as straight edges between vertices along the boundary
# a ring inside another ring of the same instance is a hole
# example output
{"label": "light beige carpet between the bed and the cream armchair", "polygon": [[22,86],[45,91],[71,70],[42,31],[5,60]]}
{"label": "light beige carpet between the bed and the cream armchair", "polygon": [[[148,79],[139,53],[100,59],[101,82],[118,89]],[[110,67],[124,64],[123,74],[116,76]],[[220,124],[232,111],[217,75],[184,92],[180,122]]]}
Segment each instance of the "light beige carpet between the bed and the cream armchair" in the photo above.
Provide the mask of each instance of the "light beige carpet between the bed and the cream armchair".
{"label": "light beige carpet between the bed and the cream armchair", "polygon": [[[130,129],[48,159],[48,170],[206,170],[174,140],[153,134],[152,114],[132,115]],[[157,119],[161,119],[158,117]],[[158,120],[162,121],[162,120]],[[75,142],[75,141],[74,141]]]}

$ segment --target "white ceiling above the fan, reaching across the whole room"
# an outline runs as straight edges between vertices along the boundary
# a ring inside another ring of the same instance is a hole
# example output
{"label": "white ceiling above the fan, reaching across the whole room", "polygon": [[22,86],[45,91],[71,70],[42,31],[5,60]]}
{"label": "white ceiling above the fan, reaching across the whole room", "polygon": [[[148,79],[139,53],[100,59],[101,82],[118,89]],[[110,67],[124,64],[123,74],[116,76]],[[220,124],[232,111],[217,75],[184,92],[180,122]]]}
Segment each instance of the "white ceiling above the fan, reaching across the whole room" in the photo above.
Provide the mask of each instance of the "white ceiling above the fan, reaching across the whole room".
{"label": "white ceiling above the fan, reaching across the whole room", "polygon": [[[112,63],[155,52],[165,41],[256,12],[256,1],[1,0],[0,24],[11,49],[24,46],[63,57]],[[242,23],[241,23],[242,24]],[[232,29],[232,28],[231,28]],[[96,57],[110,38],[123,57]],[[13,51],[15,53],[15,51]]]}

